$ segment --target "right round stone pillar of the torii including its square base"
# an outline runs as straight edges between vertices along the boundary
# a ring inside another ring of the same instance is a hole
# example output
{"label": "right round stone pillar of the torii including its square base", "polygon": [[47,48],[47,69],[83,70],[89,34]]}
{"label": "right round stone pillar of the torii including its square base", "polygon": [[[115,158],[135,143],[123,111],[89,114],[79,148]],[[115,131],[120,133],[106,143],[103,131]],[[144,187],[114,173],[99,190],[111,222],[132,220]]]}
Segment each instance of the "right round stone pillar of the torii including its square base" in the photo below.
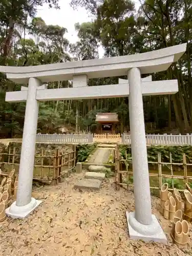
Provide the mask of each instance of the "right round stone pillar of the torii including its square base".
{"label": "right round stone pillar of the torii including its square base", "polygon": [[135,212],[126,212],[130,239],[153,240],[166,244],[166,236],[155,215],[152,215],[140,69],[130,69],[127,78],[130,86],[129,110],[135,197]]}

